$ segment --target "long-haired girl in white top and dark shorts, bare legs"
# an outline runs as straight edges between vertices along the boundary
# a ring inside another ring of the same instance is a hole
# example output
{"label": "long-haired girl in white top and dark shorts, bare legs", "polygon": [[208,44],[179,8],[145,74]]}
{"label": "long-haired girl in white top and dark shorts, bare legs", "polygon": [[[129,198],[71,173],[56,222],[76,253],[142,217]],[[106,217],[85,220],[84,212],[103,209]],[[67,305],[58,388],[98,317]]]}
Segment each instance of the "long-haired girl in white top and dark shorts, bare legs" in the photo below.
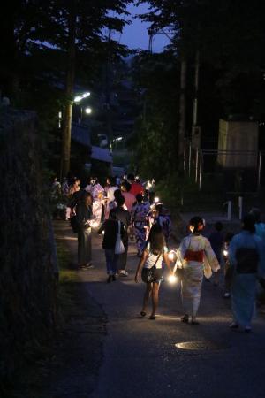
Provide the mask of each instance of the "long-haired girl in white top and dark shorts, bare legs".
{"label": "long-haired girl in white top and dark shorts, bare legs", "polygon": [[168,249],[165,245],[163,231],[161,226],[155,225],[150,230],[147,246],[143,251],[134,278],[136,283],[139,282],[141,274],[142,281],[146,283],[142,310],[140,311],[141,318],[147,315],[149,298],[152,297],[152,312],[149,319],[155,320],[159,287],[163,280],[163,261],[170,271]]}

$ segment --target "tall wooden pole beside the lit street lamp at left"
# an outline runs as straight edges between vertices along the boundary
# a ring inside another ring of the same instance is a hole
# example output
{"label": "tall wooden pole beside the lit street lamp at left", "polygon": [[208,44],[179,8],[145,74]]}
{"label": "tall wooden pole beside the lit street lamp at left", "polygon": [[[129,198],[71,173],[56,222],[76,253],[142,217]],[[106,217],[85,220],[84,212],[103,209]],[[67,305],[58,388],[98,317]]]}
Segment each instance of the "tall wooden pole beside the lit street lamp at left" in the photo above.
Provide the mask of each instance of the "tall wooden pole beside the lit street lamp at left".
{"label": "tall wooden pole beside the lit street lamp at left", "polygon": [[75,75],[75,39],[76,39],[76,0],[72,0],[69,7],[68,18],[68,49],[67,49],[67,71],[65,96],[66,103],[64,108],[63,134],[62,134],[62,157],[61,157],[61,179],[70,170],[71,157],[71,130],[72,130],[72,102],[73,85]]}

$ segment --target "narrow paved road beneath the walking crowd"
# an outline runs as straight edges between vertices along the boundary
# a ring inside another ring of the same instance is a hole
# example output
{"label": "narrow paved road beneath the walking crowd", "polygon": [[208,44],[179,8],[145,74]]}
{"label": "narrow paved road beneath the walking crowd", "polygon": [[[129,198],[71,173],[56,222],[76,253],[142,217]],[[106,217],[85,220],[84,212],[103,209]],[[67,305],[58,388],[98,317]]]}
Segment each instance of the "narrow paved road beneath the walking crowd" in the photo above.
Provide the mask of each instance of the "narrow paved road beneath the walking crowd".
{"label": "narrow paved road beneath the walking crowd", "polygon": [[[73,251],[72,232],[65,238]],[[179,321],[179,287],[163,282],[156,320],[138,314],[144,284],[135,284],[138,264],[130,243],[129,277],[106,283],[102,237],[93,236],[95,269],[79,272],[87,291],[108,316],[104,360],[92,398],[264,398],[265,317],[254,332],[232,332],[230,302],[220,287],[204,282],[198,326]],[[200,342],[203,349],[176,344]],[[74,397],[72,397],[74,398]]]}

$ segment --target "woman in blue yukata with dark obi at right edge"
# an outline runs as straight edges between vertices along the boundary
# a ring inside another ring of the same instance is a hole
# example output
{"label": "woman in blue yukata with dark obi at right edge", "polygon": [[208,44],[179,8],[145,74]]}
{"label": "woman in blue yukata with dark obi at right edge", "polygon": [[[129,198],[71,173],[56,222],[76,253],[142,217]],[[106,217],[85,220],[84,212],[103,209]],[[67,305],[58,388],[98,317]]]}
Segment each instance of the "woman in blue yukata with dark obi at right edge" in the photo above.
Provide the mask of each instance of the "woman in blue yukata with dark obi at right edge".
{"label": "woman in blue yukata with dark obi at right edge", "polygon": [[265,275],[265,256],[262,240],[255,233],[255,218],[243,218],[242,232],[233,237],[229,247],[231,265],[231,329],[243,326],[251,331],[255,312],[257,278]]}

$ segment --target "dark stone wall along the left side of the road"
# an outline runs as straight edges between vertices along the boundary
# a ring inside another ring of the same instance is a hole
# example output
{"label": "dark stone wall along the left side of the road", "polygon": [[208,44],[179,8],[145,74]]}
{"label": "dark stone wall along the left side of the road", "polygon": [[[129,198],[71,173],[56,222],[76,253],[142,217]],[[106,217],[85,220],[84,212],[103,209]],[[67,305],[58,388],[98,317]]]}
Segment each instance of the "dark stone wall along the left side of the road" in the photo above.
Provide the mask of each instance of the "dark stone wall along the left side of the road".
{"label": "dark stone wall along the left side of the road", "polygon": [[0,384],[50,338],[56,278],[34,112],[0,109]]}

